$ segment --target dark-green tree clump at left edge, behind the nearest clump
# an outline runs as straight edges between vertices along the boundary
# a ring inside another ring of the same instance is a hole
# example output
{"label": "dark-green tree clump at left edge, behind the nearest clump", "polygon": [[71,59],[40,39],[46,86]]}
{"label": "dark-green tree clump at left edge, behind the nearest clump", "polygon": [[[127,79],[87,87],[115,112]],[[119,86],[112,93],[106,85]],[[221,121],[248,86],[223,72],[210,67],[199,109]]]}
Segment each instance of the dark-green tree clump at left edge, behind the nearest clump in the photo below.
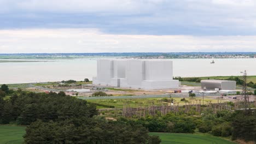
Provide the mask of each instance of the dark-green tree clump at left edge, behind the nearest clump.
{"label": "dark-green tree clump at left edge, behind the nearest clump", "polygon": [[37,119],[47,122],[72,117],[92,117],[97,114],[95,105],[66,96],[64,92],[49,94],[22,92],[14,94],[3,103],[2,124],[30,124]]}

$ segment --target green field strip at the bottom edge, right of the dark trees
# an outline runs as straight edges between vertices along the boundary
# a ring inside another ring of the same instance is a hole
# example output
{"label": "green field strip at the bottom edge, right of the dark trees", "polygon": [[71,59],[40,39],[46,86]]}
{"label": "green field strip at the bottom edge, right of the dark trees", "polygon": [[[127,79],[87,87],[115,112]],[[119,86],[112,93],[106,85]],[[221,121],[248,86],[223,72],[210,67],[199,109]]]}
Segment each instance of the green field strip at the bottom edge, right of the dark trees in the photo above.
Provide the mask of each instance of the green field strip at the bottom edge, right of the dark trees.
{"label": "green field strip at the bottom edge, right of the dark trees", "polygon": [[199,134],[176,134],[176,133],[150,133],[158,135],[162,140],[161,144],[183,143],[183,144],[234,144],[234,142],[221,139],[220,137]]}

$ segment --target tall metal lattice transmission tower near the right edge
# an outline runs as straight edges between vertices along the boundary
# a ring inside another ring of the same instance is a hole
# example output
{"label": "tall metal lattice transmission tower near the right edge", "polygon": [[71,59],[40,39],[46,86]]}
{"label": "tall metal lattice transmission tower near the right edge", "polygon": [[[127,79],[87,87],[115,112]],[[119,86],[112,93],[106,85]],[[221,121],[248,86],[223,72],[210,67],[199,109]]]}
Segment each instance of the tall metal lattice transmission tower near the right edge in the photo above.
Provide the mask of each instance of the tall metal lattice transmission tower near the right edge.
{"label": "tall metal lattice transmission tower near the right edge", "polygon": [[247,95],[247,72],[243,72],[243,92],[242,92],[242,107],[245,109],[249,108],[249,97]]}

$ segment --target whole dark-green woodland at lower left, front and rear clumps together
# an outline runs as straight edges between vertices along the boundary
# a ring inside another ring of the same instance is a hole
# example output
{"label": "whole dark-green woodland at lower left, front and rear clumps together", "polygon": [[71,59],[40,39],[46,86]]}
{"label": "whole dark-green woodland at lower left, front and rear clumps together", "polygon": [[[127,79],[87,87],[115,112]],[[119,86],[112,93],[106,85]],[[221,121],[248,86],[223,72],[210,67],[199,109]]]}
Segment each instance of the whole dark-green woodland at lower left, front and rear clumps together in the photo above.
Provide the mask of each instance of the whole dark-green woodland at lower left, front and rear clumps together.
{"label": "whole dark-green woodland at lower left, front and rear clumps together", "polygon": [[148,143],[161,142],[139,124],[107,121],[96,105],[64,92],[19,91],[0,97],[0,124],[27,125],[25,143]]}

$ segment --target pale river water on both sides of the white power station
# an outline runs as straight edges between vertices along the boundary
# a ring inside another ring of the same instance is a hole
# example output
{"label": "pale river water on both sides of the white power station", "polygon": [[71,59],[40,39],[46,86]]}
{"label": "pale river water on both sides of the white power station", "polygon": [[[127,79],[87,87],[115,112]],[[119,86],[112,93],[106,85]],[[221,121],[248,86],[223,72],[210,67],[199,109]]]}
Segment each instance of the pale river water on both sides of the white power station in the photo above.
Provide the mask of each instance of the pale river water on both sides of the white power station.
{"label": "pale river water on both sides of the white power station", "polygon": [[[3,59],[0,59],[0,84],[69,79],[82,81],[85,78],[92,80],[92,76],[97,75],[96,59],[98,58],[42,60],[44,62],[1,62]],[[172,61],[173,76],[236,76],[242,75],[241,71],[244,70],[247,70],[248,75],[256,75],[256,58],[214,59],[214,64],[211,64],[212,59],[172,59]]]}

